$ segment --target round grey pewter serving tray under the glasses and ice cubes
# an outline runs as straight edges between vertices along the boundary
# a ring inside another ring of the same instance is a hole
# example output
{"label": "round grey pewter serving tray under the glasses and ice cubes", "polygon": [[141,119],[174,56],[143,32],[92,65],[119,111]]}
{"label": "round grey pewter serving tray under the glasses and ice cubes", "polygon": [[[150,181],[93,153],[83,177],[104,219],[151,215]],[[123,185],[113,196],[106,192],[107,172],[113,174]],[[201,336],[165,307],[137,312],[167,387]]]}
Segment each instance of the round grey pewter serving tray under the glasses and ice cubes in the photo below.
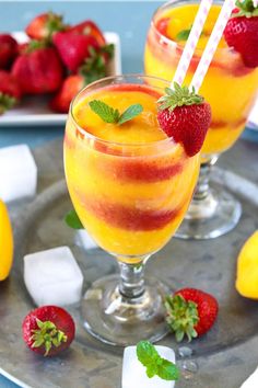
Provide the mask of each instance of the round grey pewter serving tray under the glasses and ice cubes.
{"label": "round grey pewter serving tray under the glasses and ice cubes", "polygon": [[[228,155],[238,160],[237,152],[238,148]],[[245,163],[248,158],[247,155]],[[69,308],[77,320],[77,339],[60,357],[37,356],[21,339],[22,320],[34,307],[23,283],[24,254],[63,244],[71,247],[84,273],[84,288],[117,271],[115,260],[104,251],[81,250],[75,232],[63,222],[71,203],[62,174],[61,141],[35,150],[35,159],[39,167],[39,195],[34,202],[11,206],[15,262],[10,278],[0,283],[0,369],[22,387],[121,388],[122,350],[93,340],[82,327],[79,306]],[[250,169],[256,170],[254,166]],[[173,239],[148,263],[148,272],[172,288],[202,288],[214,294],[220,303],[213,329],[192,343],[185,343],[194,351],[191,358],[177,355],[180,367],[187,368],[183,368],[177,388],[239,388],[258,364],[258,301],[242,298],[234,287],[237,254],[257,228],[258,185],[222,169],[215,169],[214,180],[216,184],[224,182],[243,204],[237,228],[210,241]],[[161,343],[178,349],[172,335]]]}

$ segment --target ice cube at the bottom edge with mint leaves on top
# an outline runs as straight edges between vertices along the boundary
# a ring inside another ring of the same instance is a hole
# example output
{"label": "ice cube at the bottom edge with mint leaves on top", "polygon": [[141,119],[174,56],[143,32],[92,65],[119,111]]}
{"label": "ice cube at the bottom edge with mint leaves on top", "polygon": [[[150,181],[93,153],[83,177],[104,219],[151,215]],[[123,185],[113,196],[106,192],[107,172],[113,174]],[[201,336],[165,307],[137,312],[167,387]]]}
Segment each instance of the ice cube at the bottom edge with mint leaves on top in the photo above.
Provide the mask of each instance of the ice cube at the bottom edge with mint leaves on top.
{"label": "ice cube at the bottom edge with mint leaves on top", "polygon": [[[167,346],[156,345],[159,354],[166,360],[175,363],[175,352]],[[154,376],[146,376],[146,368],[139,362],[137,357],[137,346],[128,346],[124,352],[121,388],[173,388],[175,381],[163,380]]]}

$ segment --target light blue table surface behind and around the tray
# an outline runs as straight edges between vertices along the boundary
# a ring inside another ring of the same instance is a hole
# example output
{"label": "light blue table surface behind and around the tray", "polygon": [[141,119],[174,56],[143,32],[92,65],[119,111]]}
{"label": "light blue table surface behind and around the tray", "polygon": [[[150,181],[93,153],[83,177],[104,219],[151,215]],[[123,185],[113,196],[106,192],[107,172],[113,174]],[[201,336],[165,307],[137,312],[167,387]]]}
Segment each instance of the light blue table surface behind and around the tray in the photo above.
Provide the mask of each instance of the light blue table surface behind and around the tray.
{"label": "light blue table surface behind and around the tray", "polygon": [[[144,41],[154,10],[161,1],[0,1],[0,30],[24,30],[38,13],[52,10],[69,23],[93,19],[104,31],[115,31],[121,39],[122,71],[143,71]],[[12,15],[10,18],[10,15]],[[31,147],[62,137],[63,127],[0,128],[0,147],[26,142]],[[244,137],[257,140],[257,134],[246,130]],[[1,361],[0,361],[1,367]],[[19,386],[0,375],[0,388]]]}

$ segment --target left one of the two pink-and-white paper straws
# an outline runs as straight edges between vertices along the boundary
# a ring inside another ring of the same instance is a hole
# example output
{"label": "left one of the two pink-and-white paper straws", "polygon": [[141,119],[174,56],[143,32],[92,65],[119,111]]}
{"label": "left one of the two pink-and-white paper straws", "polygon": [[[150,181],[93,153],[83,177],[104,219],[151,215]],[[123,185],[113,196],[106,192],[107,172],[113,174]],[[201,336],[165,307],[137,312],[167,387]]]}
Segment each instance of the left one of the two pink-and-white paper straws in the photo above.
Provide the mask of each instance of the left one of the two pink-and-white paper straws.
{"label": "left one of the two pink-and-white paper straws", "polygon": [[187,39],[187,43],[186,43],[186,46],[185,46],[184,52],[181,54],[179,64],[177,66],[176,72],[175,72],[175,76],[174,76],[173,81],[171,83],[171,88],[172,89],[173,89],[174,82],[177,82],[177,83],[181,84],[184,79],[185,79],[185,77],[186,77],[188,67],[190,65],[192,55],[194,55],[196,46],[197,46],[197,43],[198,43],[200,34],[202,32],[202,27],[203,27],[203,25],[206,23],[208,13],[209,13],[211,4],[212,4],[212,1],[213,0],[202,0],[201,3],[200,3],[200,7],[198,9],[196,19],[194,21],[194,24],[192,24],[192,27],[191,27],[191,31],[190,31],[190,35],[189,35],[189,37]]}

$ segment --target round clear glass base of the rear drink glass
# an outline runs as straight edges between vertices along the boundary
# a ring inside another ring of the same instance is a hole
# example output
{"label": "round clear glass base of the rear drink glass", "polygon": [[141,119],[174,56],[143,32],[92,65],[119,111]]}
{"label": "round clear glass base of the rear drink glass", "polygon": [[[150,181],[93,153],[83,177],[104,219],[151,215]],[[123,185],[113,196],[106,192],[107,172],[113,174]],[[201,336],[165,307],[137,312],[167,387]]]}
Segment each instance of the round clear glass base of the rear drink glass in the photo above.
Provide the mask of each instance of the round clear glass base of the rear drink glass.
{"label": "round clear glass base of the rear drink glass", "polygon": [[233,195],[212,189],[204,198],[194,197],[175,237],[194,240],[214,239],[234,229],[241,215],[241,203]]}

